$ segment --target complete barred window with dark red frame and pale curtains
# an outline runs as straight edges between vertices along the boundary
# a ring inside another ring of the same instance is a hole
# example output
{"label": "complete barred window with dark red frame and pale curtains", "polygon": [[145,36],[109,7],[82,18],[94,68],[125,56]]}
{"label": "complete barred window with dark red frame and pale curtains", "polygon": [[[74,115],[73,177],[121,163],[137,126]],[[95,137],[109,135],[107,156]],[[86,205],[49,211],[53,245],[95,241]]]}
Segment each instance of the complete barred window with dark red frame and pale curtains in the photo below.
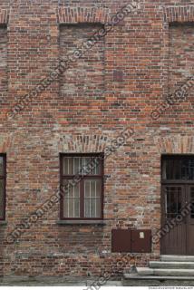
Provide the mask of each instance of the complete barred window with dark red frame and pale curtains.
{"label": "complete barred window with dark red frame and pale curtains", "polygon": [[103,155],[61,154],[61,219],[102,219]]}

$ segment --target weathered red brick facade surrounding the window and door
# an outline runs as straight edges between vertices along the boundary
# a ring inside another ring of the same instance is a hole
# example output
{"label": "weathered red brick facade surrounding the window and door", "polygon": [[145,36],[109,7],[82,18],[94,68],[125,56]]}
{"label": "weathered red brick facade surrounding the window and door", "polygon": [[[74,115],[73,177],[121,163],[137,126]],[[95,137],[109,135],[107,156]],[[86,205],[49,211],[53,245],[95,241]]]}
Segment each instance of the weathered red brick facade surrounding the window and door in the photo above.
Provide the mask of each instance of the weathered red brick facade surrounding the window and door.
{"label": "weathered red brick facade surrounding the window and door", "polygon": [[[194,153],[193,94],[156,121],[150,112],[193,73],[192,1],[140,1],[138,12],[14,119],[6,118],[65,53],[128,4],[1,0],[0,152],[6,153],[7,175],[0,275],[120,275],[134,258],[112,253],[112,228],[160,228],[160,156]],[[134,136],[104,164],[105,225],[59,225],[56,204],[14,244],[7,242],[59,187],[60,152],[102,152],[126,127]],[[152,253],[136,262],[159,256],[160,245],[153,244]]]}

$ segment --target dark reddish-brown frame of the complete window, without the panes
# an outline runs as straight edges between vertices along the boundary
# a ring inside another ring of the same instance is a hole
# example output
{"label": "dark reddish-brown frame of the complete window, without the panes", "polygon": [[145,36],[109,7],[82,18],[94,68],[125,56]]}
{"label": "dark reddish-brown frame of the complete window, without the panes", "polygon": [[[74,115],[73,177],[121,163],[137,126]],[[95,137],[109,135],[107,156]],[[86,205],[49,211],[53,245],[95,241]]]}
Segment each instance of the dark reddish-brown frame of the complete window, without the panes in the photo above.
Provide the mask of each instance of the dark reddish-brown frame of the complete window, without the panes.
{"label": "dark reddish-brown frame of the complete window, without the panes", "polygon": [[[63,157],[91,157],[91,158],[99,158],[100,162],[101,162],[101,171],[100,174],[95,174],[95,175],[87,175],[87,174],[83,174],[83,175],[63,175]],[[81,185],[80,185],[80,189],[81,189],[81,196],[80,196],[80,218],[66,218],[64,217],[63,213],[63,194],[61,196],[60,199],[60,219],[61,220],[102,220],[103,219],[103,189],[104,189],[104,185],[103,185],[103,180],[104,180],[104,154],[103,153],[60,153],[60,189],[63,188],[63,180],[64,179],[73,179],[73,177],[75,176],[79,176],[81,177]],[[101,179],[102,180],[102,190],[101,190],[101,217],[99,218],[85,218],[84,217],[84,189],[83,189],[83,180],[84,179]]]}

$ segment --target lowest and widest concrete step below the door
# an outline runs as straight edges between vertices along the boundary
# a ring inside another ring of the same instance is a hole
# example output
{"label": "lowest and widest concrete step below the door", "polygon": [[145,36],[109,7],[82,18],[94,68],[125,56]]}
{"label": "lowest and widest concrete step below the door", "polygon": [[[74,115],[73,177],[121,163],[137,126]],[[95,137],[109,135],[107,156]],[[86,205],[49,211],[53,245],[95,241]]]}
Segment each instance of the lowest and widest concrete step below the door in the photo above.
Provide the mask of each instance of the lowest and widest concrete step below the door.
{"label": "lowest and widest concrete step below the door", "polygon": [[123,286],[193,286],[194,277],[124,274],[121,282]]}

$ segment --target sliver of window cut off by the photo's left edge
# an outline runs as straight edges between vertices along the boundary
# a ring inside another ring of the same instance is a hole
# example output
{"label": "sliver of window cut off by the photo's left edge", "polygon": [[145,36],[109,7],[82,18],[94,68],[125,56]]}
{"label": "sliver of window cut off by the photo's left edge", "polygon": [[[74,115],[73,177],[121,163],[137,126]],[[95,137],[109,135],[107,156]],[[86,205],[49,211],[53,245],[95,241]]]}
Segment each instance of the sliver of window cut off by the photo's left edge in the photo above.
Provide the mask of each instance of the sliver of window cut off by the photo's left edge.
{"label": "sliver of window cut off by the photo's left edge", "polygon": [[5,219],[5,154],[0,154],[0,220]]}

